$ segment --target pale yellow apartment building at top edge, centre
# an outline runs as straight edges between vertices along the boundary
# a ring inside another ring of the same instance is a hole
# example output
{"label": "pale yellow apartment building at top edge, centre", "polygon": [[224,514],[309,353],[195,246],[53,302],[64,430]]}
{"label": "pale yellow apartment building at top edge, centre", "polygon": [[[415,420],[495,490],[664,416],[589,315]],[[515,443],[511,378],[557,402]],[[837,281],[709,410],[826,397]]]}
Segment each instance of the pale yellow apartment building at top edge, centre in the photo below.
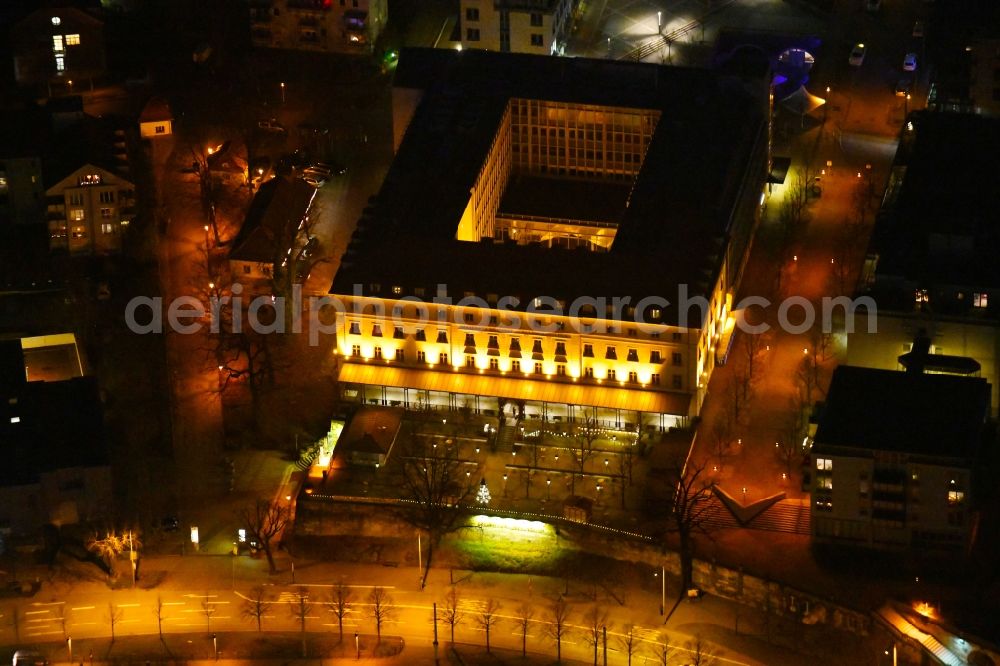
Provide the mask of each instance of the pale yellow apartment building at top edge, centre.
{"label": "pale yellow apartment building at top edge, centre", "polygon": [[461,0],[463,48],[562,54],[577,0]]}

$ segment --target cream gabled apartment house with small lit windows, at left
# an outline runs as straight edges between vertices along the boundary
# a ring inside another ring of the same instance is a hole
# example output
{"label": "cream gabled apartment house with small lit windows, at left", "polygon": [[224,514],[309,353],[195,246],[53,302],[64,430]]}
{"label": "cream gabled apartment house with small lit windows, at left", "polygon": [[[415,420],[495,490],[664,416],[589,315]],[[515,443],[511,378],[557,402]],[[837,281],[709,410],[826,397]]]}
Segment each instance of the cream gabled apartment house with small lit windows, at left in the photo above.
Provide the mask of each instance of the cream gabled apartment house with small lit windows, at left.
{"label": "cream gabled apartment house with small lit windows, at left", "polygon": [[135,185],[84,164],[45,191],[50,247],[70,254],[116,254],[135,217]]}

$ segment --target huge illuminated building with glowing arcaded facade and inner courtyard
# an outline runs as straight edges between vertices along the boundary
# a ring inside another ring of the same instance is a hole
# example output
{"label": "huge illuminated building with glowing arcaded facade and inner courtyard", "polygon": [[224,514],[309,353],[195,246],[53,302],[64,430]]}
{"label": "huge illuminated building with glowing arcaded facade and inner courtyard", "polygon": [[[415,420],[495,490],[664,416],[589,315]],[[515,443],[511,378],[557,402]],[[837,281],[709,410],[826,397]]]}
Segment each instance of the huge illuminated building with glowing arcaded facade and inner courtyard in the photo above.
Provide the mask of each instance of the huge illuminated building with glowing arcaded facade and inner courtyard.
{"label": "huge illuminated building with glowing arcaded facade and inner courtyard", "polygon": [[763,200],[767,72],[420,49],[393,95],[396,157],[331,289],[342,396],[697,414]]}

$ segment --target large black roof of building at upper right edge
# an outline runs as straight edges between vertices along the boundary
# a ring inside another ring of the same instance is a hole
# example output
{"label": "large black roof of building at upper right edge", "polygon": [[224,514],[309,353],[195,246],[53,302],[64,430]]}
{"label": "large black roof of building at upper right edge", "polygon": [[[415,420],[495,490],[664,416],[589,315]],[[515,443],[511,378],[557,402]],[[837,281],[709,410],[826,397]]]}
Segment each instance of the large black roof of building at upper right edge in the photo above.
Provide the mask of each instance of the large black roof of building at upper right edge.
{"label": "large black roof of building at upper right edge", "polygon": [[[902,183],[890,183],[872,235],[879,305],[896,305],[896,295],[912,309],[913,285],[1000,287],[1000,118],[925,112],[911,122],[894,164]],[[880,293],[887,281],[904,283],[904,293]]]}

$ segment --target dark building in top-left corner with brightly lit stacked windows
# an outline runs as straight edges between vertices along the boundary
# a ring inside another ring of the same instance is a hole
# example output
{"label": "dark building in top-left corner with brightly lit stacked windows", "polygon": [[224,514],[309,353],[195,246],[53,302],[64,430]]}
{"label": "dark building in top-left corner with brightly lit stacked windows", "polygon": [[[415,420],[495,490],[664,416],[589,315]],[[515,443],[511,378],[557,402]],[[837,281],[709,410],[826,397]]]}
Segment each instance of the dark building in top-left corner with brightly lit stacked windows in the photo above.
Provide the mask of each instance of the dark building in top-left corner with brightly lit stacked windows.
{"label": "dark building in top-left corner with brightly lit stacked windows", "polygon": [[20,86],[82,89],[107,73],[104,24],[83,10],[39,9],[16,23],[10,37]]}

